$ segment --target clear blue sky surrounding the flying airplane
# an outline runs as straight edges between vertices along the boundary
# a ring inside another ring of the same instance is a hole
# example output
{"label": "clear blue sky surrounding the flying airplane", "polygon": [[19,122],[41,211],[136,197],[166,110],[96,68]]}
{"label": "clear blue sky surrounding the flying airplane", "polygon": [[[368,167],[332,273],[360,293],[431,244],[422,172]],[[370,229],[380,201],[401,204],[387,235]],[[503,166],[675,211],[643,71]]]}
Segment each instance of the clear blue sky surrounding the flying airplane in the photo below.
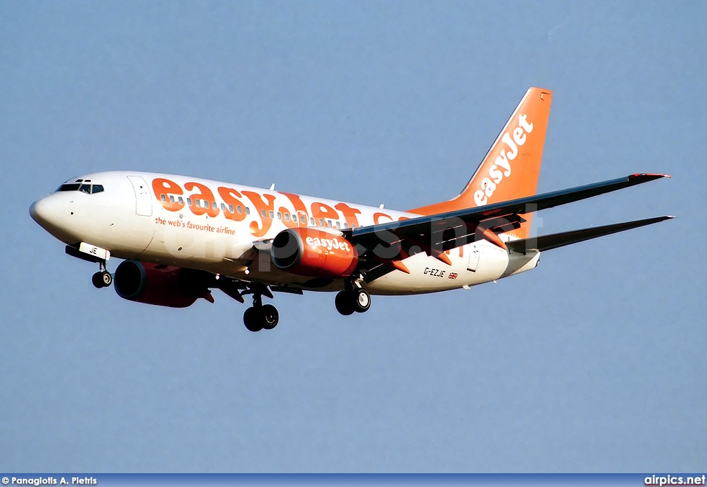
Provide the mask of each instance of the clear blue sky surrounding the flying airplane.
{"label": "clear blue sky surrounding the flying airplane", "polygon": [[[703,2],[0,4],[0,471],[703,471],[706,21]],[[252,334],[226,295],[95,290],[28,215],[112,169],[441,201],[529,86],[554,90],[540,192],[673,176],[538,233],[679,218],[363,315],[278,295]]]}

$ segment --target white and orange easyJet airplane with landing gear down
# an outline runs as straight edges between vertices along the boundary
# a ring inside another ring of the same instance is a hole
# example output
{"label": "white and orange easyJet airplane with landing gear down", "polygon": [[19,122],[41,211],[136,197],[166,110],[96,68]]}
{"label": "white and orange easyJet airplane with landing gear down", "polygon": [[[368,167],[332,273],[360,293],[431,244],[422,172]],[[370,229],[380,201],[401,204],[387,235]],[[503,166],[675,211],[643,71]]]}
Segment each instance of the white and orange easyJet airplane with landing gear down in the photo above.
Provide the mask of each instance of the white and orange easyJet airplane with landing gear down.
{"label": "white and orange easyJet airplane with landing gear down", "polygon": [[[99,264],[96,288],[121,298],[187,307],[212,289],[252,306],[250,331],[273,329],[274,293],[337,292],[341,315],[371,295],[433,293],[534,269],[540,253],[665,221],[658,216],[552,235],[530,233],[532,214],[670,177],[636,173],[536,194],[552,92],[530,88],[479,167],[448,201],[408,211],[154,172],[95,172],[64,182],[30,216]],[[124,259],[111,274],[110,257]]]}

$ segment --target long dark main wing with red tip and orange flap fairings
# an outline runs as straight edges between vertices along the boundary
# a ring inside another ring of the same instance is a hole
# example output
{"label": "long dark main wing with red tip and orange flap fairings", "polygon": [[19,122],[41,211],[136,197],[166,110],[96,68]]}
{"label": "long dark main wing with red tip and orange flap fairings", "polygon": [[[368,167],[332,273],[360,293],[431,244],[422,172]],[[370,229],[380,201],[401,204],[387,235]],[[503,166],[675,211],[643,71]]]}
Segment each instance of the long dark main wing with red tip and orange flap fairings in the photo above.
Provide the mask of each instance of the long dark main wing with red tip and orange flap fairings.
{"label": "long dark main wing with red tip and orange flap fairings", "polygon": [[[444,254],[446,250],[480,239],[489,240],[489,242],[505,249],[506,242],[501,240],[498,234],[518,228],[521,223],[525,222],[523,215],[527,213],[580,201],[581,199],[617,191],[636,184],[658,180],[662,177],[670,176],[663,174],[633,174],[616,180],[597,182],[486,206],[381,223],[380,225],[355,228],[354,230],[344,230],[344,235],[358,248],[358,253],[363,257],[361,269],[364,270],[371,270],[378,265],[382,265],[387,267],[389,271],[392,269],[407,271],[401,262],[402,259],[419,252],[426,252],[449,264],[450,261]],[[650,223],[655,223],[655,221],[650,221]],[[649,223],[643,224],[647,225]],[[627,229],[624,228],[624,230]],[[614,233],[615,231],[621,230],[614,229],[609,233]],[[607,233],[603,235],[607,235]],[[588,238],[582,238],[581,240],[588,240]],[[568,243],[572,242],[566,242],[562,245],[567,245]],[[557,246],[559,245],[555,245],[555,247]],[[380,274],[380,269],[374,274]]]}

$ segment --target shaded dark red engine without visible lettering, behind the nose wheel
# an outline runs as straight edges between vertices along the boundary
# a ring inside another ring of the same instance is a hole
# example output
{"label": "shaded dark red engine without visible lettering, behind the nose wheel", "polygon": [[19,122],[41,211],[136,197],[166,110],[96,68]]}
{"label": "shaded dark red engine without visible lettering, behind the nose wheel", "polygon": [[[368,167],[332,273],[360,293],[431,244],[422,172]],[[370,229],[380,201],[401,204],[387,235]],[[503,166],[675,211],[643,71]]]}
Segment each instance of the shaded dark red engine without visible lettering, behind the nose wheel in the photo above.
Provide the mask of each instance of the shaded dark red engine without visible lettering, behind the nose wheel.
{"label": "shaded dark red engine without visible lettering, behind the nose wheel", "polygon": [[201,296],[185,288],[185,269],[126,260],[115,269],[113,287],[124,299],[148,305],[187,307]]}

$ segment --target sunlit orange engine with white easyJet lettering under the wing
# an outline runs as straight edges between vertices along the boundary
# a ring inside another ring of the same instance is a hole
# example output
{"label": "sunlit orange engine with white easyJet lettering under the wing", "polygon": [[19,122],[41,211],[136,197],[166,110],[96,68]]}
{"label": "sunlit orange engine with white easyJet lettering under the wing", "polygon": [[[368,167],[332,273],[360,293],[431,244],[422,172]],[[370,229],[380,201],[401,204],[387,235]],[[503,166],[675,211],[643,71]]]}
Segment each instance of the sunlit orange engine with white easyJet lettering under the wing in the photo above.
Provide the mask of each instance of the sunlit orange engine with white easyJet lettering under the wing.
{"label": "sunlit orange engine with white easyJet lettering under the wing", "polygon": [[356,247],[344,237],[314,228],[288,228],[272,241],[272,262],[291,274],[342,278],[358,264]]}

